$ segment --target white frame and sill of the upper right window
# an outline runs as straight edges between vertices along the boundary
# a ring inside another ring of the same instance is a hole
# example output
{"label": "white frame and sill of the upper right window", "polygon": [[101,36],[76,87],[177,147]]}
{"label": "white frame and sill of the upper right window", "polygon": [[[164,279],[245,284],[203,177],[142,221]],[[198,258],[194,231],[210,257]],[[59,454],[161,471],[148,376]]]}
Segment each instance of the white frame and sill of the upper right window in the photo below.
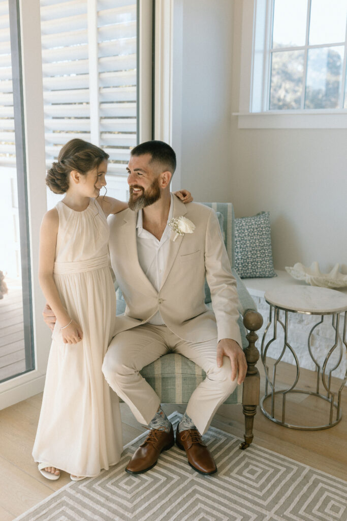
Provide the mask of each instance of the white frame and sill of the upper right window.
{"label": "white frame and sill of the upper right window", "polygon": [[264,110],[273,0],[243,0],[242,5],[239,111],[233,113],[238,117],[238,128],[347,128],[347,109]]}

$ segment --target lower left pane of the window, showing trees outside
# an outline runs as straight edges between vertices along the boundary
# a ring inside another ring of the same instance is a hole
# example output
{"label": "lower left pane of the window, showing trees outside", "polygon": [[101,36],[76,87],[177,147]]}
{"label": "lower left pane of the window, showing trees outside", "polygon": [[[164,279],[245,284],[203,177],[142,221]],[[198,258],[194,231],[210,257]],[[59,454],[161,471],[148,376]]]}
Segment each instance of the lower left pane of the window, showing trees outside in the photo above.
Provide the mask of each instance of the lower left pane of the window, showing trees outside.
{"label": "lower left pane of the window, showing trees outside", "polygon": [[272,53],[270,110],[301,107],[303,51]]}

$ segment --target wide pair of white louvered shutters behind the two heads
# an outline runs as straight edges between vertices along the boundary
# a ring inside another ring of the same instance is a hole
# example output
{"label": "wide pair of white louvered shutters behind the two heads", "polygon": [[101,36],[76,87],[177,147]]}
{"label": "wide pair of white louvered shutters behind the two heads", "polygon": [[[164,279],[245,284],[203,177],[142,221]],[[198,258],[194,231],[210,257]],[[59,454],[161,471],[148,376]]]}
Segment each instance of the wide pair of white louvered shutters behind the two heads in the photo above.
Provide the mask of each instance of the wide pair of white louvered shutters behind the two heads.
{"label": "wide pair of white louvered shutters behind the two heads", "polygon": [[41,0],[47,166],[81,138],[125,175],[136,145],[136,2]]}

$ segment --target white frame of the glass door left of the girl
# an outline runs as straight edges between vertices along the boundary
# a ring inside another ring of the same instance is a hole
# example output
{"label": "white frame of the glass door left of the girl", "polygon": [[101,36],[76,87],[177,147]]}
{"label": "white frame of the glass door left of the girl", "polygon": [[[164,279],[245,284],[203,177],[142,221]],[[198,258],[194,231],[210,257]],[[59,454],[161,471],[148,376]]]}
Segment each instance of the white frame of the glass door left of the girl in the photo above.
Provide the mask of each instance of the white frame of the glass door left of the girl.
{"label": "white frame of the glass door left of the girl", "polygon": [[51,333],[42,319],[45,300],[38,283],[38,239],[41,219],[47,209],[46,187],[43,182],[46,165],[41,80],[40,3],[20,0],[19,8],[35,369],[0,384],[0,408],[8,407],[42,391],[51,337]]}

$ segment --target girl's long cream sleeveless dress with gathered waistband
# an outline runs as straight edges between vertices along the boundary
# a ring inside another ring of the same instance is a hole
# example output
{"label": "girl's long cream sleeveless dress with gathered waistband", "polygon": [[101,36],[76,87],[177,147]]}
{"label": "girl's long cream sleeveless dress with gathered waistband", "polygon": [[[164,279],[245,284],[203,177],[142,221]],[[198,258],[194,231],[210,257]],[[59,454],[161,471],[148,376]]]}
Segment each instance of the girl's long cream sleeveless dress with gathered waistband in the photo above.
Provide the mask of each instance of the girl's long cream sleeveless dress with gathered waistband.
{"label": "girl's long cream sleeveless dress with gathered waistband", "polygon": [[64,344],[56,324],[33,457],[76,476],[97,476],[120,459],[119,400],[101,372],[112,338],[115,293],[104,212],[91,199],[83,212],[62,201],[54,281],[69,315],[83,331],[78,344]]}

